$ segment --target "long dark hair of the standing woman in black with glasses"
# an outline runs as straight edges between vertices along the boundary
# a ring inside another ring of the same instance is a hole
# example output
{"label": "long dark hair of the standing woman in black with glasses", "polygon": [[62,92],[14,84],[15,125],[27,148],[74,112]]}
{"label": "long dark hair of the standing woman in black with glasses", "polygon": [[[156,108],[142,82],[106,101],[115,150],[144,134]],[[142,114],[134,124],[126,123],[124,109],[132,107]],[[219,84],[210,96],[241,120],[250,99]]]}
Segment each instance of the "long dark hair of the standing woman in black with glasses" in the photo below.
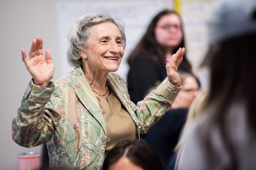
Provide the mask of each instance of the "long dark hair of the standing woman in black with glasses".
{"label": "long dark hair of the standing woman in black with glasses", "polygon": [[[165,63],[165,59],[166,59],[165,50],[156,41],[155,28],[158,20],[162,18],[164,15],[168,15],[168,14],[176,14],[180,18],[180,15],[173,10],[164,10],[158,13],[148,25],[148,29],[143,35],[143,37],[140,39],[138,45],[128,56],[127,58],[128,64],[131,64],[132,61],[134,61],[138,57],[138,55],[140,55],[141,53],[146,53],[147,57],[149,57],[152,60],[160,60]],[[181,18],[180,18],[180,21],[181,21]],[[174,49],[174,52],[176,52],[180,47],[185,47],[183,28],[182,28],[182,33],[183,33],[182,41]],[[183,61],[180,64],[180,67],[182,68],[183,71],[188,71],[188,72],[191,71],[191,64],[188,61],[186,54],[183,56]]]}

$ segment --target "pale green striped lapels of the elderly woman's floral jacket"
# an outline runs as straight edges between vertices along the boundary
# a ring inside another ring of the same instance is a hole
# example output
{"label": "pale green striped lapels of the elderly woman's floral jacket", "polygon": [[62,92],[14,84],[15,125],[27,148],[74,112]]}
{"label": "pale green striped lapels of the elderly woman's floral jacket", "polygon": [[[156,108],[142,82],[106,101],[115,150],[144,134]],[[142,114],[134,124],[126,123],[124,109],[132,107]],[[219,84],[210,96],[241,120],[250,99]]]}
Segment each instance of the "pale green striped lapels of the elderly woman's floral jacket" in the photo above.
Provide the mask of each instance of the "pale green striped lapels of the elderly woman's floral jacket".
{"label": "pale green striped lapels of the elderly woman's floral jacket", "polygon": [[[81,67],[76,67],[71,73],[72,85],[74,87],[74,92],[80,101],[84,104],[84,107],[92,114],[92,116],[100,123],[105,135],[107,136],[106,124],[100,110],[99,103],[87,81],[84,72]],[[132,110],[132,103],[130,96],[127,91],[126,84],[124,80],[116,73],[108,73],[108,85],[112,92],[115,93],[119,101],[124,105],[124,108],[131,115],[133,121],[139,126],[139,121]],[[138,128],[137,128],[138,129]]]}

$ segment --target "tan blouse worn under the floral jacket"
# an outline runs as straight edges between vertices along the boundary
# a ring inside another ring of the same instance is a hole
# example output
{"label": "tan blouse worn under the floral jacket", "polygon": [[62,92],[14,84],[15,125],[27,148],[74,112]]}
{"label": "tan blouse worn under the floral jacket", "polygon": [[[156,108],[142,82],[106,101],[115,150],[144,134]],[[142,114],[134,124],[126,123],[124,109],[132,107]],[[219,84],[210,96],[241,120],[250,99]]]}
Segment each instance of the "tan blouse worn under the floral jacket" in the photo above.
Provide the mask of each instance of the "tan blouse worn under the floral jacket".
{"label": "tan blouse worn under the floral jacket", "polygon": [[106,98],[96,97],[107,126],[107,143],[105,158],[108,152],[124,139],[135,139],[136,124],[130,114],[124,109],[113,92]]}

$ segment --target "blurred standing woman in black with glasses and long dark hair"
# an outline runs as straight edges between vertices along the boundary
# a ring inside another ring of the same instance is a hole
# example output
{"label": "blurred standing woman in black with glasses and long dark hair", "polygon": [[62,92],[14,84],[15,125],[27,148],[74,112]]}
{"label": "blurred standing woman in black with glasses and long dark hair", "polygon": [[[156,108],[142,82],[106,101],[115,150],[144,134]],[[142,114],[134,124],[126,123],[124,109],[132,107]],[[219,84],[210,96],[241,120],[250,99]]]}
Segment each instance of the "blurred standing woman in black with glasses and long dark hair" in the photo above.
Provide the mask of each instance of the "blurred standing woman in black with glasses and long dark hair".
{"label": "blurred standing woman in black with glasses and long dark hair", "polygon": [[[165,79],[165,60],[180,47],[185,47],[180,15],[173,10],[159,12],[127,59],[130,66],[127,84],[132,102],[142,100],[149,89],[156,89]],[[178,70],[191,72],[186,54]]]}

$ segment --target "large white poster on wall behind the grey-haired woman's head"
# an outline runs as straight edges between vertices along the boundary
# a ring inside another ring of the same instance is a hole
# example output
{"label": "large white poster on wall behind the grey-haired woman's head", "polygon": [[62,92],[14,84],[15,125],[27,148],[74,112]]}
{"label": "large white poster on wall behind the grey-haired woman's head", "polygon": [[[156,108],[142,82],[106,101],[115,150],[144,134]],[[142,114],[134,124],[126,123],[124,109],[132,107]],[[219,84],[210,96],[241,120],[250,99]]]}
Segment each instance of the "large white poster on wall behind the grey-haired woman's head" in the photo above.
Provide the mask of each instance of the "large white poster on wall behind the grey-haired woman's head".
{"label": "large white poster on wall behind the grey-haired woman's head", "polygon": [[[96,1],[96,2],[60,2],[57,5],[58,11],[58,32],[60,40],[60,55],[67,56],[68,31],[74,25],[76,19],[84,14],[94,11],[107,12],[113,18],[121,19],[125,24],[126,48],[124,57],[117,74],[126,80],[129,69],[126,57],[137,45],[144,34],[150,20],[163,10],[162,1]],[[67,60],[61,61],[61,74],[73,70]]]}

